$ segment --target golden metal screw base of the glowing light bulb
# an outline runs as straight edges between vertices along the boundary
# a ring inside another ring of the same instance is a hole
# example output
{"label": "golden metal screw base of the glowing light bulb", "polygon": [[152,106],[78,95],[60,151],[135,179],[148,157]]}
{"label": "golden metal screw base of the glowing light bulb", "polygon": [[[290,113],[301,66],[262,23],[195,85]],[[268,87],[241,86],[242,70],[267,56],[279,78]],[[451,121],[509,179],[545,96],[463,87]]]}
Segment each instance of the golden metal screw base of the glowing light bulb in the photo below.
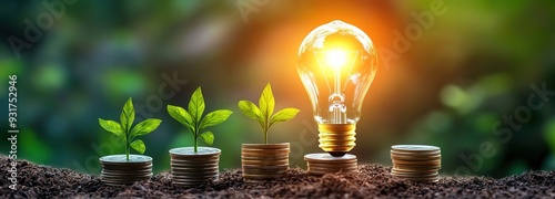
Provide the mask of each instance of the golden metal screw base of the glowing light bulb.
{"label": "golden metal screw base of the glowing light bulb", "polygon": [[319,147],[333,157],[343,157],[356,146],[354,124],[319,124]]}

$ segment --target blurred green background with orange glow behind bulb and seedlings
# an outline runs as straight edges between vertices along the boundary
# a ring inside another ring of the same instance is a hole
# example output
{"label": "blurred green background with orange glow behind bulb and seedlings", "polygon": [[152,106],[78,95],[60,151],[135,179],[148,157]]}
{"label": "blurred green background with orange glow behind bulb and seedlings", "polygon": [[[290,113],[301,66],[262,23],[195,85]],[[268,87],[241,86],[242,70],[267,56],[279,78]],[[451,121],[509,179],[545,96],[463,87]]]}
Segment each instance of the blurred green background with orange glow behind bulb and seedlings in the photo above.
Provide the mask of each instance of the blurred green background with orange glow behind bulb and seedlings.
{"label": "blurred green background with orange glow behind bulb and seedlings", "polygon": [[[26,40],[26,19],[37,24],[50,13],[43,3],[58,1],[2,1],[0,98],[7,107],[8,75],[17,74],[18,158],[99,174],[100,156],[124,150],[98,118],[119,119],[133,97],[143,113],[138,117],[163,121],[142,139],[154,171],[168,170],[168,150],[192,139],[165,105],[185,106],[202,86],[206,111],[234,112],[212,130],[221,168],[239,168],[241,144],[261,143],[262,133],[236,103],[258,101],[270,82],[278,108],[301,109],[270,130],[270,142],[290,142],[291,166],[304,168],[303,155],[321,149],[296,53],[312,29],[339,19],[396,53],[387,63],[380,57],[364,101],[352,150],[360,164],[391,166],[391,145],[430,144],[442,148],[446,175],[555,169],[555,96],[536,97],[537,111],[528,107],[531,86],[555,91],[553,1],[244,1],[256,8],[248,22],[236,0],[78,0],[51,17],[20,57],[9,38]],[[445,13],[421,27],[406,52],[395,52],[394,32],[418,24],[414,15],[435,3]],[[524,122],[511,126],[504,117]],[[0,153],[8,154],[8,127],[1,128]]]}

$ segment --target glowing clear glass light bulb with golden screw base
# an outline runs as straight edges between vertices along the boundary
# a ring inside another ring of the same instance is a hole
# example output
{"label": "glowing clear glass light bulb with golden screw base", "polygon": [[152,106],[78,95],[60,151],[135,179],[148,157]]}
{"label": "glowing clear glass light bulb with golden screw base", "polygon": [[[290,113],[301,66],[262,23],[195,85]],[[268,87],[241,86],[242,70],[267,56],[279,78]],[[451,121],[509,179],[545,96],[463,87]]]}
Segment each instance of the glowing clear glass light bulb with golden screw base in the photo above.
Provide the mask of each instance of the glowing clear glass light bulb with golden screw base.
{"label": "glowing clear glass light bulb with golden screw base", "polygon": [[339,20],[317,27],[299,49],[297,70],[319,124],[320,148],[345,155],[355,146],[362,103],[377,71],[372,40]]}

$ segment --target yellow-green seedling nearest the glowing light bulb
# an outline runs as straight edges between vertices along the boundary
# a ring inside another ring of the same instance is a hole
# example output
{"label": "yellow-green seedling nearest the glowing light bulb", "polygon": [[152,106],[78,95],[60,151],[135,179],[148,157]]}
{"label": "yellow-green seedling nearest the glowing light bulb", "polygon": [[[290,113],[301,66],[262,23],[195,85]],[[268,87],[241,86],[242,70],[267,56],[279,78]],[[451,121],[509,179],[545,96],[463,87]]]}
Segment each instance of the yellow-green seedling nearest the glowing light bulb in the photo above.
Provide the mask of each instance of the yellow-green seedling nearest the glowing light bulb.
{"label": "yellow-green seedling nearest the glowing light bulb", "polygon": [[268,144],[268,129],[270,129],[272,125],[274,125],[275,123],[290,121],[300,112],[300,109],[297,108],[289,107],[279,111],[278,113],[275,113],[275,115],[272,115],[274,112],[274,106],[275,100],[274,95],[272,94],[272,87],[270,86],[270,83],[268,83],[266,87],[260,95],[259,106],[256,106],[251,101],[239,102],[239,109],[241,109],[241,112],[248,117],[259,122],[260,126],[262,127],[262,132],[264,133],[264,144]]}

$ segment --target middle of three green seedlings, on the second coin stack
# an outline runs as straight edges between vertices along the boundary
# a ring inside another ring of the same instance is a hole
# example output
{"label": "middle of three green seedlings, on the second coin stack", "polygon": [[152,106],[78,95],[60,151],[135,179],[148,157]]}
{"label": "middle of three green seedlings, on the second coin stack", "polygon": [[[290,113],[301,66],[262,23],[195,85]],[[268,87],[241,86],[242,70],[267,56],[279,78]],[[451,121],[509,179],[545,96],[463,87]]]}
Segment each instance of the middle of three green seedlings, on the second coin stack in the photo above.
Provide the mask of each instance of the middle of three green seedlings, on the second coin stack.
{"label": "middle of three green seedlings, on the second coin stack", "polygon": [[202,117],[204,113],[204,97],[199,86],[191,96],[191,101],[189,101],[189,111],[179,106],[168,105],[168,113],[193,134],[194,153],[196,153],[199,137],[209,145],[214,143],[214,134],[208,130],[203,132],[203,129],[225,122],[233,112],[229,109],[216,109]]}

